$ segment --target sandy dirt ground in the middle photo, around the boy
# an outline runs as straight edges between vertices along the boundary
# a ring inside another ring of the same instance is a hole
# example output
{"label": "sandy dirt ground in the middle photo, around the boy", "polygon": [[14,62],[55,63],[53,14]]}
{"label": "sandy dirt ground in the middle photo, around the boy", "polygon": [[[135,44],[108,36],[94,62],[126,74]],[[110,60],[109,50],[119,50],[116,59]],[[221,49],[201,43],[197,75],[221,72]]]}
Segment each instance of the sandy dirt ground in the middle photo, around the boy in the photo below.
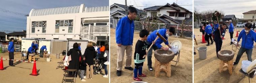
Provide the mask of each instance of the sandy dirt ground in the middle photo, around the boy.
{"label": "sandy dirt ground in the middle photo, around the boy", "polygon": [[[123,69],[122,75],[116,75],[116,67],[117,67],[117,44],[115,38],[115,31],[116,29],[110,29],[110,82],[111,83],[131,83],[135,82],[133,80],[133,71],[124,69],[125,60],[123,62]],[[135,49],[135,44],[139,39],[138,32],[134,32],[134,39],[133,39],[133,52]],[[154,77],[155,71],[148,70],[147,66],[147,59],[144,62],[142,73],[146,74],[147,77],[140,77],[142,81],[148,83],[192,83],[192,39],[184,39],[184,38],[176,38],[171,36],[168,38],[169,43],[173,40],[180,40],[182,42],[182,49],[180,53],[180,61],[177,63],[176,66],[171,66],[171,77],[167,77],[165,72],[160,72],[159,77]],[[162,44],[164,47],[166,45]],[[154,54],[154,51],[153,51]],[[133,57],[134,55],[132,55]],[[154,56],[154,55],[152,55]],[[173,60],[177,60],[177,56],[174,57]],[[155,58],[152,57],[152,66],[154,67]],[[174,62],[171,63],[174,65]],[[134,68],[134,60],[132,60],[131,67]],[[154,69],[154,68],[153,68]]]}

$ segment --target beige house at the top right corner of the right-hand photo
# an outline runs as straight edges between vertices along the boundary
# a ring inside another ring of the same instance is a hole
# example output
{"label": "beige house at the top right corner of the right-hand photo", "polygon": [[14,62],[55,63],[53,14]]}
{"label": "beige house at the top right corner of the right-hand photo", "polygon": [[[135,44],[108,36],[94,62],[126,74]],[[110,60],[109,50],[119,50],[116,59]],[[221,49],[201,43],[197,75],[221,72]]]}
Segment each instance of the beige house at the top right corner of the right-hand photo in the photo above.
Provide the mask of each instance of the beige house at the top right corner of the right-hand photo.
{"label": "beige house at the top right corner of the right-hand photo", "polygon": [[244,14],[244,22],[255,23],[256,10],[248,11]]}

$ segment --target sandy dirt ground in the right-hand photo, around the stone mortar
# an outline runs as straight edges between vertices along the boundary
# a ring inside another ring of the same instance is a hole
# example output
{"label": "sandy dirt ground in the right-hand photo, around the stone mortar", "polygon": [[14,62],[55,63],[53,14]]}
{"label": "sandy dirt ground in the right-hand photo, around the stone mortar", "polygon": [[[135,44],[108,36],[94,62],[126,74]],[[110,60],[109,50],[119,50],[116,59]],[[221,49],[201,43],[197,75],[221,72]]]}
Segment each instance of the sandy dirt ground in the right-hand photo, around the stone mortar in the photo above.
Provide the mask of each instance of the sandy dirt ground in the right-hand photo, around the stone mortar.
{"label": "sandy dirt ground in the right-hand photo, around the stone mortar", "polygon": [[[242,29],[237,29],[242,30]],[[239,32],[238,32],[239,33]],[[201,44],[202,42],[202,32],[199,29],[194,29],[194,34],[199,35],[196,36],[197,44],[194,44],[196,49],[199,47],[206,47],[207,43]],[[236,32],[233,34],[233,38],[237,40]],[[221,50],[231,50],[232,45],[230,45],[230,35],[228,30],[224,36],[223,44]],[[210,40],[211,43],[211,40]],[[241,41],[239,42],[241,43]],[[255,43],[254,43],[255,46]],[[252,60],[255,60],[256,57],[256,48],[253,48]],[[239,72],[241,69],[242,61],[248,60],[246,53],[243,54],[237,65],[233,66],[232,75],[228,73],[228,70],[219,73],[219,62],[220,60],[216,56],[216,47],[215,43],[213,45],[207,46],[207,58],[205,60],[200,60],[198,56],[198,51],[196,50],[197,55],[194,55],[194,82],[195,83],[249,83],[248,77],[243,77],[243,75]],[[235,52],[235,56],[233,58],[233,62],[237,56],[238,50]],[[256,78],[250,79],[251,83],[256,82]]]}

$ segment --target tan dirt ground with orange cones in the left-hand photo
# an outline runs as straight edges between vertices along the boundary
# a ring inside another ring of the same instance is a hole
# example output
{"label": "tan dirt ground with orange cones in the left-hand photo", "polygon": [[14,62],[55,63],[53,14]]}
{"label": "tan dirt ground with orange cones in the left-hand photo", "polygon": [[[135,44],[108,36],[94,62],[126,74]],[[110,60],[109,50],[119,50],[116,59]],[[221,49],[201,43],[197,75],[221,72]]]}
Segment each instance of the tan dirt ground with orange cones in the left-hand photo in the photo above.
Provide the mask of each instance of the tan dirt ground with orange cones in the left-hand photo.
{"label": "tan dirt ground with orange cones in the left-hand photo", "polygon": [[[0,54],[0,57],[4,59],[9,59],[8,53]],[[27,62],[17,62],[14,61],[15,67],[9,66],[8,60],[3,60],[3,66],[6,68],[5,70],[0,70],[0,83],[62,83],[63,74],[65,73],[61,68],[56,69],[58,66],[57,62],[60,62],[64,56],[60,56],[60,59],[56,59],[56,56],[50,56],[51,62],[46,62],[45,58],[40,58],[36,56],[36,68],[39,73],[38,76],[31,76],[29,74],[32,73],[33,63]],[[20,52],[14,52],[14,59],[21,59]],[[109,69],[108,69],[109,71]],[[104,70],[102,71],[105,74]],[[80,72],[78,72],[80,74]],[[109,83],[109,78],[102,77],[101,74],[93,75],[93,79],[85,79],[86,82],[90,83]],[[72,80],[67,79],[66,82],[70,83]],[[82,82],[80,78],[77,76],[76,83],[86,83]],[[63,81],[64,83],[64,81]]]}

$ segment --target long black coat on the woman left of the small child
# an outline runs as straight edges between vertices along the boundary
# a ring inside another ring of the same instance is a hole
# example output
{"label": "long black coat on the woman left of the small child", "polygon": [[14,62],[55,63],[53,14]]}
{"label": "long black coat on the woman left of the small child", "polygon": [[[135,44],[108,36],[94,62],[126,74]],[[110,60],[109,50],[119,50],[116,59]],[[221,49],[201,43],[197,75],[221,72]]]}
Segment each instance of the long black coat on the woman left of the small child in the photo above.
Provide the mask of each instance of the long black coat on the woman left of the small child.
{"label": "long black coat on the woman left of the small child", "polygon": [[79,57],[82,55],[78,48],[70,49],[67,56],[71,55],[71,61],[69,61],[68,69],[79,69]]}

